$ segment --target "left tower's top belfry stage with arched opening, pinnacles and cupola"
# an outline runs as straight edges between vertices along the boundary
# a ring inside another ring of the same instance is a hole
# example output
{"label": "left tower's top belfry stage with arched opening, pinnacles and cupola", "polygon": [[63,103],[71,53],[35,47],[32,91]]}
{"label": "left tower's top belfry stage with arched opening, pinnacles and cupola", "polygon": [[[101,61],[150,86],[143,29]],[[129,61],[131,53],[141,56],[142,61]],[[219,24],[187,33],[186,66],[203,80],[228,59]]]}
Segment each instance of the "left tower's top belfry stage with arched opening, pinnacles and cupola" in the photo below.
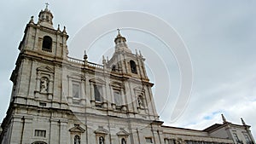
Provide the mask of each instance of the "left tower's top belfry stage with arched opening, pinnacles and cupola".
{"label": "left tower's top belfry stage with arched opening, pinnacles and cupola", "polygon": [[67,60],[67,32],[60,25],[55,29],[53,26],[53,14],[48,8],[41,10],[38,14],[38,22],[34,17],[26,25],[24,37],[20,42],[20,53],[37,56],[47,56],[49,60]]}

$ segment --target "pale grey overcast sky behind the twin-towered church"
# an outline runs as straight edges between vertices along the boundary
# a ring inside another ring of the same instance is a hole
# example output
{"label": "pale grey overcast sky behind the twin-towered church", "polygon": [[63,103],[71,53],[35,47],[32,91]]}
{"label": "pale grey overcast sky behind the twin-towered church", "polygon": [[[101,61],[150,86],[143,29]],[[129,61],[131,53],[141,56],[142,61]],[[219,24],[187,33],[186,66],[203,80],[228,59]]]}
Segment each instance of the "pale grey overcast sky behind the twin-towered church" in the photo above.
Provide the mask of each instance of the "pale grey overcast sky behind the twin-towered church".
{"label": "pale grey overcast sky behind the twin-towered church", "polygon": [[[0,9],[0,42],[2,56],[0,57],[0,119],[3,119],[9,106],[12,83],[9,81],[15,60],[19,54],[18,46],[30,17],[38,21],[38,13],[44,9],[45,2],[16,1],[2,2]],[[179,89],[179,72],[173,55],[165,66],[170,75],[170,90],[166,107],[161,107],[156,101],[160,119],[166,125],[203,130],[215,123],[222,123],[220,114],[234,124],[241,124],[244,118],[252,125],[253,135],[256,135],[256,1],[253,0],[166,0],[166,1],[128,1],[128,0],[49,0],[49,9],[54,14],[54,26],[58,24],[67,27],[70,36],[68,44],[72,43],[81,28],[90,21],[105,14],[124,10],[140,11],[154,14],[165,20],[182,37],[191,56],[193,64],[193,88],[189,104],[175,122],[170,120],[173,104],[177,100]],[[119,28],[119,27],[117,27]],[[144,45],[156,47],[161,44],[147,33],[135,30],[124,30],[122,34],[127,41],[143,42]],[[113,38],[116,32],[110,32],[95,45],[113,48]],[[108,36],[108,37],[107,37]],[[145,37],[139,37],[145,36]],[[148,41],[147,41],[148,40]],[[98,45],[97,45],[98,44]],[[128,43],[129,44],[129,43]],[[129,46],[138,46],[130,43]],[[155,48],[159,50],[161,47]],[[69,55],[82,59],[84,49],[68,48]],[[154,71],[157,63],[154,57],[147,55],[146,49],[141,49],[148,67],[148,75],[155,83],[154,93],[161,90],[157,87],[166,75],[158,77]],[[104,49],[103,49],[104,50]],[[113,52],[113,51],[112,51]],[[88,54],[89,60],[98,62],[99,58]],[[100,52],[98,55],[108,53]],[[111,50],[110,53],[111,54]],[[111,55],[108,55],[111,56]],[[151,71],[152,70],[152,71]],[[165,89],[162,89],[165,90]],[[155,95],[154,95],[155,96]],[[160,97],[160,95],[158,95]],[[254,136],[255,138],[255,136]]]}

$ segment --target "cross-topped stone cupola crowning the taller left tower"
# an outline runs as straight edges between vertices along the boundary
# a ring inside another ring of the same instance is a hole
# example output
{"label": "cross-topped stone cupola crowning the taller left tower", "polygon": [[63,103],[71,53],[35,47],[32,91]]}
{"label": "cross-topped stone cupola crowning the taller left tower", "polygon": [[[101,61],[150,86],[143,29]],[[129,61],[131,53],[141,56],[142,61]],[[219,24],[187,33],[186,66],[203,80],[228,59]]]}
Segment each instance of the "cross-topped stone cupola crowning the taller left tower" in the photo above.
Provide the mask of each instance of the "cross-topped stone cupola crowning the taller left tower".
{"label": "cross-topped stone cupola crowning the taller left tower", "polygon": [[38,15],[38,24],[40,26],[46,26],[49,28],[53,28],[53,14],[51,14],[50,10],[48,9],[48,3],[45,3],[46,7],[44,10],[41,10],[41,12]]}

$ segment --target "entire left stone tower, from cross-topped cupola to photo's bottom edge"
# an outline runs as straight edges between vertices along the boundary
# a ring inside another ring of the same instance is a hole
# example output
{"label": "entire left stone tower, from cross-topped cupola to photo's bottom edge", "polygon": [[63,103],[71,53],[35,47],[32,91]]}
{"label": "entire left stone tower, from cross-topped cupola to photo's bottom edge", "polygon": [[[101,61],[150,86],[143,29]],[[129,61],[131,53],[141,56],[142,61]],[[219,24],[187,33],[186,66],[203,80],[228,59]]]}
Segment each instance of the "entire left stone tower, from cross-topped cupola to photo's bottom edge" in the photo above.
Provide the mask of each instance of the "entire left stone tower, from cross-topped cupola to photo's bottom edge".
{"label": "entire left stone tower, from cross-topped cupola to photo's bottom edge", "polygon": [[[60,135],[58,140],[49,137],[60,132],[56,131],[57,124],[67,129],[70,110],[62,95],[61,72],[67,63],[68,35],[65,26],[62,30],[60,25],[54,28],[54,16],[48,5],[39,12],[38,22],[32,16],[26,24],[18,48],[20,54],[10,78],[11,100],[0,135],[3,143],[65,143],[65,135]],[[26,135],[25,131],[30,134]]]}

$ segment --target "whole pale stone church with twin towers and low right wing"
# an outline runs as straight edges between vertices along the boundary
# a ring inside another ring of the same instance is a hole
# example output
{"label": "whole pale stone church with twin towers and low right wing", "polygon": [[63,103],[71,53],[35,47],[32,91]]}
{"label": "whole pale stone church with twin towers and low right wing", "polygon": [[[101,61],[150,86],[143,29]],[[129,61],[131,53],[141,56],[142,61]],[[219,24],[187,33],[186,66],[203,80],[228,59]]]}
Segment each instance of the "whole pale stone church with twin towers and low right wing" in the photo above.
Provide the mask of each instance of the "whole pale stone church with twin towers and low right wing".
{"label": "whole pale stone church with twin towers and low right wing", "polygon": [[250,126],[223,124],[205,130],[163,125],[142,54],[118,33],[102,64],[68,56],[67,32],[41,10],[20,42],[10,80],[13,90],[1,124],[2,144],[253,144]]}

